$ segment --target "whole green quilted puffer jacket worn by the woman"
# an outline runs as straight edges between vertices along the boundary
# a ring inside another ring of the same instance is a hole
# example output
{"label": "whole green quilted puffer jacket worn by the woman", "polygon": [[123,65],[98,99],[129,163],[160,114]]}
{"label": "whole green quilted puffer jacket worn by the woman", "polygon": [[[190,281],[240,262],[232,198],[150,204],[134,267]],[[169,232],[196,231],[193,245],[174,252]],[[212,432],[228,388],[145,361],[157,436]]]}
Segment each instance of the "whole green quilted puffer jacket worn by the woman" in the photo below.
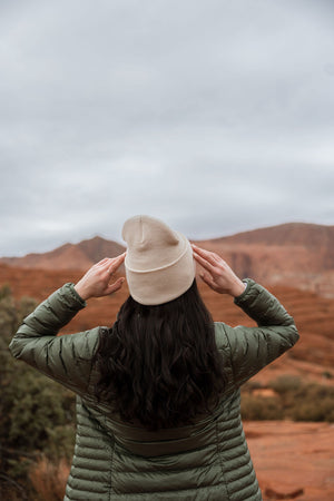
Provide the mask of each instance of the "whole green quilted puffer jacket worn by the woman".
{"label": "whole green quilted puffer jacket worn by the woman", "polygon": [[247,279],[235,299],[258,327],[215,324],[227,387],[213,415],[194,425],[147,431],[121,422],[98,403],[92,364],[99,327],[57,336],[85,307],[72,284],[41,303],[10,343],[17,358],[77,393],[77,436],[65,500],[262,500],[240,421],[239,387],[292,347],[292,316]]}

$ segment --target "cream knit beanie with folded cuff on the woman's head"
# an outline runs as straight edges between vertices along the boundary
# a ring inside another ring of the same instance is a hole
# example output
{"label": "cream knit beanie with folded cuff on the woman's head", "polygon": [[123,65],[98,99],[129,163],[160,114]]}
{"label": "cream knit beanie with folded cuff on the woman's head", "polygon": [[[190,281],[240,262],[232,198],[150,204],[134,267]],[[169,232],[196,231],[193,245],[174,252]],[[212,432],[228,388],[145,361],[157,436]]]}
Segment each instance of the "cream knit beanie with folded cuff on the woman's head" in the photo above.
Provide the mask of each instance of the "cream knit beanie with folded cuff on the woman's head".
{"label": "cream knit beanie with folded cuff on the woman's head", "polygon": [[130,294],[140,304],[167,303],[184,294],[195,278],[189,240],[150,216],[126,220],[125,268]]}

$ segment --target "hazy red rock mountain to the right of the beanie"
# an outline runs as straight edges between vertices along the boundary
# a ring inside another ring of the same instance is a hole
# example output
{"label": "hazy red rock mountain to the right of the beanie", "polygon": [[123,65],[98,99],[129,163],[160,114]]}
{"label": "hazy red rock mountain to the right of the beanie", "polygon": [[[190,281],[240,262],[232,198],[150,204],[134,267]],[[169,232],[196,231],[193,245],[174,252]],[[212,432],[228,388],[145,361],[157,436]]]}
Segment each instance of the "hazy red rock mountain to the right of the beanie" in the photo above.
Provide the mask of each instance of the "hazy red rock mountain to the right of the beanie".
{"label": "hazy red rock mountain to the right of the beanie", "polygon": [[289,223],[200,242],[240,276],[334,297],[334,226]]}

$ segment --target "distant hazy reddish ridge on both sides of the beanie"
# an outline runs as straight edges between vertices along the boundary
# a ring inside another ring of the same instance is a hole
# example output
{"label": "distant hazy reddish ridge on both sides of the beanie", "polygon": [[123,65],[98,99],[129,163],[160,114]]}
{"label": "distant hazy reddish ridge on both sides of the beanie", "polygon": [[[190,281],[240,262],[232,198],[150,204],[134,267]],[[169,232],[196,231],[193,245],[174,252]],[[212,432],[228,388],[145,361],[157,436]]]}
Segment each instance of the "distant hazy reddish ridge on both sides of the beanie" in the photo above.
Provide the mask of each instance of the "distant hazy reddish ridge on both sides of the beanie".
{"label": "distant hazy reddish ridge on both sides of the beanie", "polygon": [[[222,255],[236,273],[264,284],[282,284],[334,297],[334,226],[287,223],[197,242]],[[125,247],[99,236],[45,254],[2,257],[17,268],[85,271]]]}

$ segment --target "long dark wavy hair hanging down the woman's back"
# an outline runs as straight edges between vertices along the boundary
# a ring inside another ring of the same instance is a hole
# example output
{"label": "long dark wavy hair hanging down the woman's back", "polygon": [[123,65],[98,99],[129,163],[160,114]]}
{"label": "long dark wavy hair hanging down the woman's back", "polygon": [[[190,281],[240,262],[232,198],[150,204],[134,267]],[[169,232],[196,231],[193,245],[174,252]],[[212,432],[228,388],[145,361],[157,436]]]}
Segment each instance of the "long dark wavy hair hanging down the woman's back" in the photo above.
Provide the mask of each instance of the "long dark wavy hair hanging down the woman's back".
{"label": "long dark wavy hair hanging down the woman's back", "polygon": [[114,326],[101,332],[95,360],[98,400],[126,422],[150,430],[191,424],[217,404],[226,382],[214,322],[196,281],[157,306],[129,296]]}

